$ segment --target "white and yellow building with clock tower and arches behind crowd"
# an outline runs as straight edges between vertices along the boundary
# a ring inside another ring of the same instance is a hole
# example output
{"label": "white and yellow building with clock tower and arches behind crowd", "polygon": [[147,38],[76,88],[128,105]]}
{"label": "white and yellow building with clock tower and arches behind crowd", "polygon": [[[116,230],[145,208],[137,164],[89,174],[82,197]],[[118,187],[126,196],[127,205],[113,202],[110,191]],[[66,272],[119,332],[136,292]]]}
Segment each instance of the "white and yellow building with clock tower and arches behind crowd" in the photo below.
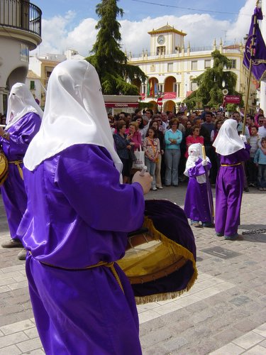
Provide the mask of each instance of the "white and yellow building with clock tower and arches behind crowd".
{"label": "white and yellow building with clock tower and arches behind crowd", "polygon": [[[157,97],[162,97],[164,111],[172,111],[174,107],[177,109],[179,103],[197,88],[192,80],[213,66],[211,52],[214,50],[219,50],[231,60],[231,71],[238,77],[235,89],[243,94],[245,100],[248,71],[242,64],[242,43],[224,47],[222,41],[217,45],[214,40],[210,48],[192,48],[189,43],[185,48],[184,37],[187,34],[169,25],[150,31],[149,34],[150,53],[143,50],[141,57],[135,58],[130,53],[128,58],[128,64],[138,65],[148,76],[145,84],[135,81],[140,87],[143,102],[151,102],[156,107]],[[255,111],[256,84],[255,80],[251,83],[250,111]]]}

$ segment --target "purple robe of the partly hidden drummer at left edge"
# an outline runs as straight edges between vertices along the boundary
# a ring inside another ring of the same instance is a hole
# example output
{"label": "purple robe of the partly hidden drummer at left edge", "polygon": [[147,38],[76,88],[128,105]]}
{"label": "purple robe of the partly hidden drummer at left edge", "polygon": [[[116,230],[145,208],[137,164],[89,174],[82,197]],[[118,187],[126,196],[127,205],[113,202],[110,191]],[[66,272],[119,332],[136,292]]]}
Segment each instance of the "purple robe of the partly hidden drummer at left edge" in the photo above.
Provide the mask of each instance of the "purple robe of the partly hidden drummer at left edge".
{"label": "purple robe of the partly hidden drummer at left edge", "polygon": [[[40,129],[40,123],[40,116],[30,112],[9,128],[9,140],[0,137],[0,145],[9,161],[23,160],[29,143]],[[23,168],[23,163],[20,166]],[[9,164],[9,175],[1,186],[1,194],[11,238],[17,239],[16,231],[27,207],[27,196],[24,182],[15,164]]]}

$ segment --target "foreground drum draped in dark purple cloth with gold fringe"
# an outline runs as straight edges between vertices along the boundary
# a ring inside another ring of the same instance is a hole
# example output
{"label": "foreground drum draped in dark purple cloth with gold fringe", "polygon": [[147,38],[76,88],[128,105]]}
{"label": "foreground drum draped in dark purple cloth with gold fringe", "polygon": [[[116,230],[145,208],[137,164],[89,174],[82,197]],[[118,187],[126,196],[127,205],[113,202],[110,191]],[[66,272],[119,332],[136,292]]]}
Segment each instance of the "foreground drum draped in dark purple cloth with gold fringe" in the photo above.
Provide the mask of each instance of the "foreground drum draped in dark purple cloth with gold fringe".
{"label": "foreground drum draped in dark purple cloth with gold fringe", "polygon": [[196,245],[184,211],[167,200],[146,200],[143,228],[128,235],[128,250],[118,265],[137,304],[188,291],[197,277]]}

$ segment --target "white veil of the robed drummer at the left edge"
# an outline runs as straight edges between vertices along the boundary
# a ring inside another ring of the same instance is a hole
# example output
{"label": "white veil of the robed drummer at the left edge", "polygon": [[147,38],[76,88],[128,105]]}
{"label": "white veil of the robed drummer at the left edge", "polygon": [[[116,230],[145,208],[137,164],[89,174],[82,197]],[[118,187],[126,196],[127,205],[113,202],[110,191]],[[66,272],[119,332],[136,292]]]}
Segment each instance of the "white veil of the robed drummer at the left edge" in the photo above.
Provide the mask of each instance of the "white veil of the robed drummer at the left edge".
{"label": "white veil of the robed drummer at the left edge", "polygon": [[37,102],[35,102],[33,94],[31,94],[28,87],[26,87],[26,84],[16,82],[16,84],[13,84],[13,87],[11,87],[11,92],[9,94],[5,129],[9,129],[21,119],[21,117],[29,112],[35,112],[40,118],[43,117],[42,109],[40,109]]}

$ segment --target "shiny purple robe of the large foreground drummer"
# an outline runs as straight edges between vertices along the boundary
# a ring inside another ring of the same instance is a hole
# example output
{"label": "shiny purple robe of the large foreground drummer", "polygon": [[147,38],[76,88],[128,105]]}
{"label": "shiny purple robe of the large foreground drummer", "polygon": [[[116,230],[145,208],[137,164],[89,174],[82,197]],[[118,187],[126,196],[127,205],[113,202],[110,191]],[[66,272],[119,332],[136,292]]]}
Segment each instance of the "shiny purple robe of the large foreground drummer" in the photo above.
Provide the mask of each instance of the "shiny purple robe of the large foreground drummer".
{"label": "shiny purple robe of the large foreground drummer", "polygon": [[89,144],[24,175],[28,207],[19,232],[31,251],[26,272],[45,354],[141,354],[126,275],[115,263],[122,291],[110,268],[80,268],[124,256],[128,232],[143,224],[142,187],[119,184],[109,153]]}

